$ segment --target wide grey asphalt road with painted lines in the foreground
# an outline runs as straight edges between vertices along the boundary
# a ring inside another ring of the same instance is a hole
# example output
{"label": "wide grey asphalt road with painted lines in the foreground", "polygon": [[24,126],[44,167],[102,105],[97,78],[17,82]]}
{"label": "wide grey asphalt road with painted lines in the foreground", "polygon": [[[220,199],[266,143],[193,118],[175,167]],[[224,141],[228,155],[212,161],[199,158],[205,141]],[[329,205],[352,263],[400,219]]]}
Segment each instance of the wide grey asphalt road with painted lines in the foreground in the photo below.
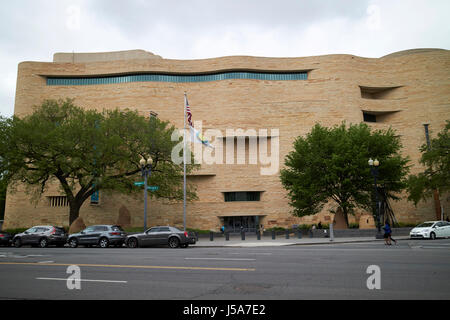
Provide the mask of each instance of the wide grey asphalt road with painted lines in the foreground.
{"label": "wide grey asphalt road with painted lines in the foreground", "polygon": [[[68,288],[77,284],[68,280],[71,265],[79,267],[80,289]],[[379,272],[368,273],[369,266]],[[380,288],[368,289],[368,279]],[[450,299],[449,280],[450,239],[393,246],[0,247],[0,299]]]}

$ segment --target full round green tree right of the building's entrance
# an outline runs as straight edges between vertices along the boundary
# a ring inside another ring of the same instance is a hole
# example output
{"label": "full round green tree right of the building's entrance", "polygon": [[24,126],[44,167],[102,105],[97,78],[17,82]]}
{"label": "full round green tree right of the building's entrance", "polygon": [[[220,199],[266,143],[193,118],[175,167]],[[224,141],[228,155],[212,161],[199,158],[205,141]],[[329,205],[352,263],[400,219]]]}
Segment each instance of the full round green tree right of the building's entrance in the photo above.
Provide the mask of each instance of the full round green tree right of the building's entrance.
{"label": "full round green tree right of the building's entrance", "polygon": [[405,188],[407,158],[400,155],[401,143],[392,129],[372,131],[366,124],[345,123],[333,128],[316,124],[306,137],[298,137],[285,159],[281,182],[288,190],[294,215],[318,213],[334,201],[348,225],[354,208],[373,209],[374,178],[369,158],[378,159],[378,184],[387,197]]}

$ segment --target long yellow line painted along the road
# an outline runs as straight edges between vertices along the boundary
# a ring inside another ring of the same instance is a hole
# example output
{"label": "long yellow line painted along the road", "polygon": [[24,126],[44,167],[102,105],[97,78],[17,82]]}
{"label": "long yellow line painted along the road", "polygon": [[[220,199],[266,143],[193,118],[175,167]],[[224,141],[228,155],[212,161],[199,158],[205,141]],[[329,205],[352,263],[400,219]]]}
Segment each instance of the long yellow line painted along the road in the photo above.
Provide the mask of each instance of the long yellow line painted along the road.
{"label": "long yellow line painted along the road", "polygon": [[28,265],[28,266],[63,266],[76,264],[79,267],[100,268],[130,268],[130,269],[168,269],[168,270],[209,270],[209,271],[255,271],[254,268],[221,268],[221,267],[178,267],[178,266],[133,266],[117,264],[86,264],[86,263],[37,263],[37,262],[0,262],[0,265]]}

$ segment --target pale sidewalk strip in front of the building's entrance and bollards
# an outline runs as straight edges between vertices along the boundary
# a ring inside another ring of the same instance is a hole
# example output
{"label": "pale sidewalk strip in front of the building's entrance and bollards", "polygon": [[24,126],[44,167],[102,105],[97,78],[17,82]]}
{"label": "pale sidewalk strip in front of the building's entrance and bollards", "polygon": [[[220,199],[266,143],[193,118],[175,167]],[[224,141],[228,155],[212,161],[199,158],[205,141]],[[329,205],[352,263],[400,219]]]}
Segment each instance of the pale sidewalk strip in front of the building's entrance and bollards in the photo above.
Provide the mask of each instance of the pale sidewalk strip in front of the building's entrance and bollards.
{"label": "pale sidewalk strip in front of the building's entrance and bollards", "polygon": [[[396,240],[409,239],[409,236],[395,237]],[[272,237],[261,237],[261,240],[257,240],[256,236],[246,236],[245,240],[241,240],[240,236],[230,236],[230,240],[226,241],[225,237],[218,236],[211,241],[208,238],[201,237],[198,242],[192,247],[207,248],[207,247],[273,247],[273,246],[295,246],[295,245],[318,245],[318,244],[340,244],[340,243],[358,243],[358,242],[383,242],[383,239],[375,239],[371,237],[348,237],[348,238],[334,238],[330,241],[330,238],[309,238],[303,237],[298,239],[297,237],[290,237],[286,239],[284,236],[277,236],[275,240]]]}

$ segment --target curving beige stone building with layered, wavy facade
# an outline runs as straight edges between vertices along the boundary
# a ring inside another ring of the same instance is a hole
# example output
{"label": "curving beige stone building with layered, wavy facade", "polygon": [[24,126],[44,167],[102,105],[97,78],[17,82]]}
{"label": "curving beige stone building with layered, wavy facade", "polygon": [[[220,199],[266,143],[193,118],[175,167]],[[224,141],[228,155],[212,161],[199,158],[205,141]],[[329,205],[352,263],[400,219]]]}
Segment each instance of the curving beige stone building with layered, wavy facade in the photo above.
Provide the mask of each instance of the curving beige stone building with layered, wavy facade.
{"label": "curving beige stone building with layered, wavy facade", "polygon": [[[291,214],[279,169],[294,139],[315,123],[365,121],[377,129],[392,127],[401,137],[404,155],[412,160],[411,172],[423,170],[418,149],[426,142],[424,125],[435,137],[450,119],[450,52],[416,49],[377,59],[325,55],[203,60],[163,59],[142,50],[57,53],[53,62],[19,64],[15,114],[29,114],[44,99],[69,97],[84,108],[130,108],[146,116],[154,112],[182,128],[184,92],[202,133],[215,133],[210,137],[214,152],[223,151],[223,161],[205,162],[188,177],[197,185],[199,200],[187,205],[187,227],[218,230],[225,224],[251,230],[258,224],[329,223],[336,209],[332,204],[316,216],[300,219]],[[267,151],[260,139],[265,132],[270,152],[261,153]],[[238,141],[245,141],[244,154]],[[208,152],[201,151],[203,156]],[[86,201],[80,216],[86,225],[115,223],[119,211],[126,209],[131,224],[142,226],[141,198],[100,192],[99,201]],[[450,211],[449,199],[441,198],[444,210]],[[433,201],[416,208],[402,200],[393,208],[403,222],[436,217]],[[67,202],[56,185],[37,203],[24,192],[8,194],[4,228],[47,223],[68,225]],[[148,225],[160,224],[182,226],[182,202],[152,199]]]}

